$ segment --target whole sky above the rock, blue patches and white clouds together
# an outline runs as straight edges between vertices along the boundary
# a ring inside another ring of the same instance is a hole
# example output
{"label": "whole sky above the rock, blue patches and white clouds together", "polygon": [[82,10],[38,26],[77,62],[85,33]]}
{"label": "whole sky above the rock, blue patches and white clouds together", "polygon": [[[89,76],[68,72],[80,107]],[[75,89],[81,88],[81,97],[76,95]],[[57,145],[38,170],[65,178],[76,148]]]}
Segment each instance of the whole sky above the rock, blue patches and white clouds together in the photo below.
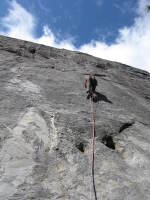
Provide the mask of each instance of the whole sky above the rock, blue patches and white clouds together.
{"label": "whole sky above the rock, blue patches and white clouds together", "polygon": [[3,0],[0,34],[150,71],[149,4],[150,0]]}

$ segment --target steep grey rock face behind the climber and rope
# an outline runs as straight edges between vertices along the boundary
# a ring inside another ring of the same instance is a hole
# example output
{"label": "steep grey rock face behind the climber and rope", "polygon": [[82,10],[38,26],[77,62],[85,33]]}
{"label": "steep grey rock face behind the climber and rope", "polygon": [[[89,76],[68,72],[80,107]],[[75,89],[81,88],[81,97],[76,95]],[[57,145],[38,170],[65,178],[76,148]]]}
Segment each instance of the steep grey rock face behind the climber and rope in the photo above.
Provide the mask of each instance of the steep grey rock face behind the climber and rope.
{"label": "steep grey rock face behind the climber and rope", "polygon": [[150,74],[0,36],[0,200],[150,199]]}

